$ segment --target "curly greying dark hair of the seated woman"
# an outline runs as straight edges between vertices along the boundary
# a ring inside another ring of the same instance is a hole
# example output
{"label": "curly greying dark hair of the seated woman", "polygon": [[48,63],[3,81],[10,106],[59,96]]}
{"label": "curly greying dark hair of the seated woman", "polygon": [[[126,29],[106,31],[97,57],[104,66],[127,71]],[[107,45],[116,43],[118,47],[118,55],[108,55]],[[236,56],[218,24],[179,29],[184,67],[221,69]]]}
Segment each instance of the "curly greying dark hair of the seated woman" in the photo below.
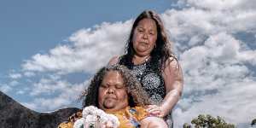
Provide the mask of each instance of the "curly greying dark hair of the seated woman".
{"label": "curly greying dark hair of the seated woman", "polygon": [[121,74],[124,79],[125,88],[127,90],[127,94],[129,96],[129,106],[144,106],[150,104],[149,96],[145,90],[143,90],[142,85],[139,81],[131,74],[131,71],[119,64],[102,67],[93,79],[90,81],[90,84],[87,89],[85,89],[85,93],[83,95],[83,108],[93,105],[98,107],[98,93],[99,87],[102,84],[102,80],[104,76],[109,71],[117,71]]}

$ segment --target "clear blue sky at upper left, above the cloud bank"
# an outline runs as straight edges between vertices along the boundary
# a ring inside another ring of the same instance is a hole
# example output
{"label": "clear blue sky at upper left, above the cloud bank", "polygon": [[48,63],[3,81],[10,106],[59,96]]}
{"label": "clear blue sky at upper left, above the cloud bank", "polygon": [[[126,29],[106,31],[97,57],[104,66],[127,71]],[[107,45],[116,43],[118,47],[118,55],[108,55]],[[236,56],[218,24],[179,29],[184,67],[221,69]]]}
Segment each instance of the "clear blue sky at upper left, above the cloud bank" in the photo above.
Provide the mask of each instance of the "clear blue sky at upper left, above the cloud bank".
{"label": "clear blue sky at upper left, above the cloud bank", "polygon": [[169,1],[1,0],[0,73],[20,68],[20,62],[38,51],[65,44],[64,40],[81,28],[131,19],[143,9],[161,13],[170,7]]}

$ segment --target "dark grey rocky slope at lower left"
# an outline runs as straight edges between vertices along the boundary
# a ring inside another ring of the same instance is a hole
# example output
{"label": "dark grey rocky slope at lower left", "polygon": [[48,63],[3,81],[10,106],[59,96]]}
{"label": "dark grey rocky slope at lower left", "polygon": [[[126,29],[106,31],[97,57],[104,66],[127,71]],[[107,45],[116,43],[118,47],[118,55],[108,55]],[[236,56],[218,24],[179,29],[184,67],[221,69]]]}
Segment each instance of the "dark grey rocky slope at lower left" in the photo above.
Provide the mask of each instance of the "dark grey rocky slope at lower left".
{"label": "dark grey rocky slope at lower left", "polygon": [[22,106],[0,91],[0,128],[55,128],[79,108],[61,108],[39,113]]}

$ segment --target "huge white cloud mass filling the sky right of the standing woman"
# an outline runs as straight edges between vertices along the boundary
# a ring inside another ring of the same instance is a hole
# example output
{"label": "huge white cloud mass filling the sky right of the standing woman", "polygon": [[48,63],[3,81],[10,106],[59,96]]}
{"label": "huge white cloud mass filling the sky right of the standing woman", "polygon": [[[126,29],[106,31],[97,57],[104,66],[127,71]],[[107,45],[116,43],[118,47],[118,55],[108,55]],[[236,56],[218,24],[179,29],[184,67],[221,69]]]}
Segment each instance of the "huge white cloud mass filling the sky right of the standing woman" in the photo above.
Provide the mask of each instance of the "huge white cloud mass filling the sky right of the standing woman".
{"label": "huge white cloud mass filling the sky right of the standing woman", "polygon": [[256,114],[252,76],[256,69],[247,64],[255,66],[256,52],[234,33],[255,34],[256,9],[241,0],[179,3],[186,9],[163,14],[170,37],[182,43],[176,48],[183,65],[185,98],[174,111],[175,127],[200,113],[223,116],[235,124],[250,122]]}

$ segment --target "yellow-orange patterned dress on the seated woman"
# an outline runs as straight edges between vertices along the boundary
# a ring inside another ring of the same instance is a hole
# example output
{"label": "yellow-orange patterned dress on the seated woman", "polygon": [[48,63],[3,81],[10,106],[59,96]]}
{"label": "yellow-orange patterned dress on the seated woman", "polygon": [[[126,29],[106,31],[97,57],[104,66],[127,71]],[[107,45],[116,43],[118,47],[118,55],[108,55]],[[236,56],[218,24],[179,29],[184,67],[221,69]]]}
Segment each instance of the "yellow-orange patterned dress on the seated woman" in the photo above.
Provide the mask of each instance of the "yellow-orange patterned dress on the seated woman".
{"label": "yellow-orange patterned dress on the seated woman", "polygon": [[[120,128],[138,128],[140,127],[140,121],[148,117],[148,112],[145,108],[124,108],[117,112],[106,111],[106,113],[112,113],[119,119]],[[67,122],[61,123],[58,128],[73,128],[73,124],[77,119],[82,118],[82,112],[73,114]]]}

